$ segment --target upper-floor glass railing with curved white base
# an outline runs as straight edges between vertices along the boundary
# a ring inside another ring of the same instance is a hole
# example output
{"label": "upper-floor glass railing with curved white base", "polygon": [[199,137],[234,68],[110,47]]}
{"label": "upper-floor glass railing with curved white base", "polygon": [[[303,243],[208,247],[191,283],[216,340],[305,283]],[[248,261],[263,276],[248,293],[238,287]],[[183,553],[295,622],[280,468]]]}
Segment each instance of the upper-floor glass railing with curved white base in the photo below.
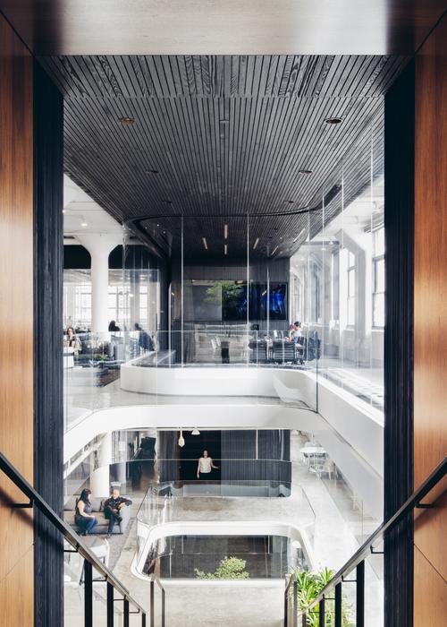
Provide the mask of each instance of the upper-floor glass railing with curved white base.
{"label": "upper-floor glass railing with curved white base", "polygon": [[[285,331],[79,332],[64,339],[65,428],[100,408],[166,404],[179,396],[185,402],[231,396],[242,404],[316,410],[317,356],[315,338],[294,342]],[[181,374],[187,367],[219,373],[209,374],[204,389],[203,373]]]}

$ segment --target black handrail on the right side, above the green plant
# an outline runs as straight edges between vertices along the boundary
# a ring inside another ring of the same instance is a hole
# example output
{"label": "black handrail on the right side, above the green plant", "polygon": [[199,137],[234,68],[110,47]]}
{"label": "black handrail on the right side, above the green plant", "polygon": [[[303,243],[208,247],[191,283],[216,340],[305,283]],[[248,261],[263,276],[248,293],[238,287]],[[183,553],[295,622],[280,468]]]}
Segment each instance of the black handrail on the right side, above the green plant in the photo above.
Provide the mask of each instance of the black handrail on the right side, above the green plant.
{"label": "black handrail on the right side, above the green plant", "polygon": [[[308,612],[310,612],[316,605],[321,606],[320,604],[324,604],[325,596],[328,592],[332,591],[333,588],[340,586],[343,582],[343,578],[350,574],[354,569],[358,569],[358,566],[364,563],[367,555],[374,553],[374,545],[378,540],[384,540],[384,536],[392,529],[395,528],[406,516],[409,515],[415,508],[431,508],[433,507],[430,503],[421,502],[426,495],[433,490],[434,486],[437,485],[447,473],[447,457],[444,457],[443,461],[441,461],[434,471],[426,477],[426,480],[419,485],[417,490],[409,496],[406,502],[401,505],[401,508],[394,513],[394,515],[388,520],[384,521],[378,528],[375,529],[375,532],[371,534],[363,543],[363,545],[358,548],[356,553],[350,557],[347,563],[345,563],[342,568],[333,575],[333,578],[326,584],[325,588],[321,590],[318,597],[305,609],[303,610],[303,624],[307,624],[305,622],[305,617]],[[361,572],[359,573],[361,577]],[[289,583],[285,588],[285,598],[286,598],[286,618],[287,618],[287,595],[289,593],[290,588],[296,584],[296,581],[291,577]],[[296,588],[296,586],[295,586]],[[341,588],[338,588],[341,590]],[[359,592],[359,591],[358,591]],[[294,590],[294,595],[295,590]],[[360,599],[361,601],[361,599]],[[296,612],[297,608],[294,607],[294,611]],[[296,622],[295,622],[296,623]],[[294,623],[294,624],[295,624]]]}

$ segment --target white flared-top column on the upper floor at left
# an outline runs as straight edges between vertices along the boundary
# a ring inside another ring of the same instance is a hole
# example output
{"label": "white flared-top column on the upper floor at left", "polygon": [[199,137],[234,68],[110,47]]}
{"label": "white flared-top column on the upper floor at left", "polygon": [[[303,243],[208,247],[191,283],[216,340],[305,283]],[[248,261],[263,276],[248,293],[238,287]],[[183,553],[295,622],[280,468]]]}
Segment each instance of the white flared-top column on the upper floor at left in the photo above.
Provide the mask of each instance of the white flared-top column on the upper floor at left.
{"label": "white flared-top column on the upper floor at left", "polygon": [[91,331],[108,331],[107,295],[109,285],[109,254],[122,244],[118,235],[78,235],[80,244],[91,257]]}

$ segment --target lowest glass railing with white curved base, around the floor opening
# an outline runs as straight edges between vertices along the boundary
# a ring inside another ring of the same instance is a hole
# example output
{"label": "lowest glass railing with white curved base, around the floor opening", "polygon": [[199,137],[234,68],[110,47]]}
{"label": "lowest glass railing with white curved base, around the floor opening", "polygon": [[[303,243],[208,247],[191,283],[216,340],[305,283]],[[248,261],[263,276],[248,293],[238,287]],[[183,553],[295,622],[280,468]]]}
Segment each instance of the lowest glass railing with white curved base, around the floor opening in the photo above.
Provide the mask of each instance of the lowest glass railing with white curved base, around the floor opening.
{"label": "lowest glass railing with white curved base, around the floor opening", "polygon": [[309,568],[314,526],[315,512],[299,485],[163,482],[148,489],[139,507],[135,564],[142,574],[201,579],[195,569],[211,572],[231,555],[249,564],[252,579],[281,578]]}

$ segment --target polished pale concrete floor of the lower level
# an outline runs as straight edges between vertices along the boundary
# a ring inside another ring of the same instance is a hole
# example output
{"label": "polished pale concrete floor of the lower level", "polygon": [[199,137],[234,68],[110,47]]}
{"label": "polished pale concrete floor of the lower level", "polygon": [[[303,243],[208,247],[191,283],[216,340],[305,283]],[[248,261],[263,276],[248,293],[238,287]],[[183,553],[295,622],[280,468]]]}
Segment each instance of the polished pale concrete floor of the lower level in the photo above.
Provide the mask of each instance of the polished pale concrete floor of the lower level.
{"label": "polished pale concrete floor of the lower level", "polygon": [[[300,459],[299,449],[303,444],[300,434],[292,434],[291,450],[294,453],[292,487],[302,486],[316,514],[314,554],[315,570],[325,566],[337,570],[361,544],[363,537],[376,526],[377,521],[362,511],[361,503],[350,494],[341,479],[321,480],[308,472]],[[143,485],[141,485],[143,488]],[[136,489],[135,494],[138,494]],[[143,489],[141,489],[141,497]],[[134,495],[134,499],[136,496]],[[193,500],[186,499],[190,507],[190,519],[194,519]],[[219,499],[214,500],[216,518],[227,515],[228,504],[222,502],[219,512]],[[250,510],[255,499],[250,499]],[[288,499],[262,499],[265,502],[288,501]],[[137,507],[137,502],[134,508]],[[186,505],[185,505],[186,507]],[[217,509],[215,509],[217,508]],[[256,508],[257,509],[257,508]],[[226,512],[226,513],[225,513]],[[186,511],[185,511],[186,513]],[[270,518],[270,511],[265,512]],[[139,579],[131,573],[131,563],[136,551],[136,523],[132,520],[126,537],[113,537],[111,566],[131,595],[142,606],[148,607],[148,580]],[[380,580],[381,556],[368,560],[367,579],[367,627],[382,627],[381,602],[383,597]],[[283,620],[283,581],[252,580],[247,583],[214,583],[205,581],[164,580],[166,589],[166,627],[279,627]],[[345,593],[353,600],[354,585],[346,585]],[[159,593],[156,593],[157,595]],[[156,607],[159,614],[159,596]],[[158,617],[159,618],[159,617]],[[135,623],[137,624],[137,623]],[[161,624],[161,623],[156,623]]]}

